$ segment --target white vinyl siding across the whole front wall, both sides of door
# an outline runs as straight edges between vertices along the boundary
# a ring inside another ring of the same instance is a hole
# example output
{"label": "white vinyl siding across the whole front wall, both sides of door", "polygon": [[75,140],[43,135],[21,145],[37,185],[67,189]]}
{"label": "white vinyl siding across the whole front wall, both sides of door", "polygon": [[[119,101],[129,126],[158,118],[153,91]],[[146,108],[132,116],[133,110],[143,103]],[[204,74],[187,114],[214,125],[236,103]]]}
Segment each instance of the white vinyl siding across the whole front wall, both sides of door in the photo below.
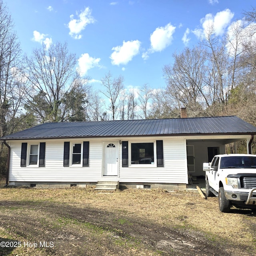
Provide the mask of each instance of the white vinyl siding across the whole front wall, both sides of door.
{"label": "white vinyl siding across the whole front wall, both sides of door", "polygon": [[[162,139],[162,138],[157,138]],[[127,138],[126,138],[127,140]],[[20,167],[21,141],[11,142],[10,177],[11,181],[27,182],[97,182],[102,180],[102,146],[101,139],[91,139],[89,152],[89,167],[63,166],[64,141],[44,140],[45,167]],[[104,140],[106,142],[106,140]],[[111,143],[115,140],[109,140]],[[152,142],[151,139],[130,140],[131,142]],[[72,140],[72,143],[81,143],[82,140]],[[30,143],[28,141],[28,143]],[[33,144],[39,141],[33,141]],[[154,140],[154,144],[155,144]],[[130,146],[130,144],[129,144]],[[120,182],[160,182],[160,183],[186,183],[186,149],[184,138],[164,138],[164,167],[156,165],[137,165],[122,168],[122,147],[119,147]],[[143,167],[144,166],[144,167]]]}

